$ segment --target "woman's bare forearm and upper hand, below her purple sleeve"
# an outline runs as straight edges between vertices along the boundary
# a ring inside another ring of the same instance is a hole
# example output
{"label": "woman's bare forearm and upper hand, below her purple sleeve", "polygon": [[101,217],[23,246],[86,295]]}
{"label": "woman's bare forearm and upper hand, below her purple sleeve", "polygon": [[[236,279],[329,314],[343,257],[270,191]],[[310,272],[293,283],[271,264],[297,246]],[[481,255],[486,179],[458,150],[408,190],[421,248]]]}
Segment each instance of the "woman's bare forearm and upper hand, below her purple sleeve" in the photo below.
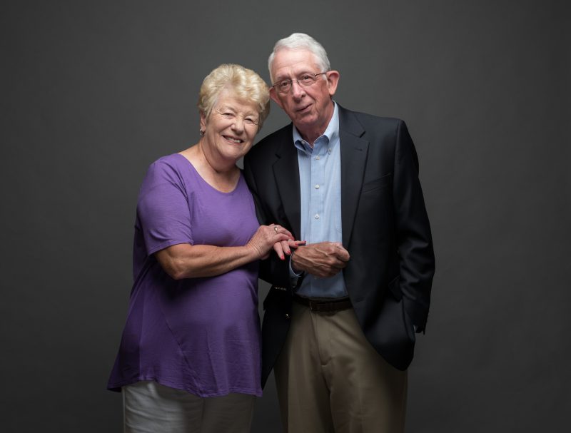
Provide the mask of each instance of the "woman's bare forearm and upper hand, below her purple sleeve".
{"label": "woman's bare forearm and upper hand, below her purple sleeve", "polygon": [[175,280],[213,277],[254,260],[267,258],[276,243],[288,239],[293,237],[285,228],[261,225],[248,243],[241,247],[181,243],[157,251],[155,257],[163,270]]}

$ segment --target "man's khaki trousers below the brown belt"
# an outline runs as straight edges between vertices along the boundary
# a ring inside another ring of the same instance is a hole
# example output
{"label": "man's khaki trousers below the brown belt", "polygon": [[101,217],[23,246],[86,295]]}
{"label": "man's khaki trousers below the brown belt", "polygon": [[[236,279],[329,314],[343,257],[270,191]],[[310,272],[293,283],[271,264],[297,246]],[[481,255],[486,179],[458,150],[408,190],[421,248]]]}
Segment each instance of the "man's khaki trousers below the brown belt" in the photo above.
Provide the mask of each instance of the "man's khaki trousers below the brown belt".
{"label": "man's khaki trousers below the brown belt", "polygon": [[378,355],[352,308],[312,312],[293,302],[274,372],[284,432],[404,432],[407,372]]}

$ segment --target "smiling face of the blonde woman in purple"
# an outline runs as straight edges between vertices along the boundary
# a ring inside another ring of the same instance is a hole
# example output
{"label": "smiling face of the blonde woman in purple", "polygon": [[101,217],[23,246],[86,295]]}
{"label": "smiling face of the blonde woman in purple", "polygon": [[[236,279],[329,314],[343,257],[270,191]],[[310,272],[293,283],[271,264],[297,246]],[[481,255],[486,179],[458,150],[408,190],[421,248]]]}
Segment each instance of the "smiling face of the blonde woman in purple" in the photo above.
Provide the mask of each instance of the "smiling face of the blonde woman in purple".
{"label": "smiling face of the blonde woman in purple", "polygon": [[208,119],[201,114],[203,143],[213,156],[235,163],[252,147],[259,118],[255,103],[243,101],[231,89],[223,89]]}

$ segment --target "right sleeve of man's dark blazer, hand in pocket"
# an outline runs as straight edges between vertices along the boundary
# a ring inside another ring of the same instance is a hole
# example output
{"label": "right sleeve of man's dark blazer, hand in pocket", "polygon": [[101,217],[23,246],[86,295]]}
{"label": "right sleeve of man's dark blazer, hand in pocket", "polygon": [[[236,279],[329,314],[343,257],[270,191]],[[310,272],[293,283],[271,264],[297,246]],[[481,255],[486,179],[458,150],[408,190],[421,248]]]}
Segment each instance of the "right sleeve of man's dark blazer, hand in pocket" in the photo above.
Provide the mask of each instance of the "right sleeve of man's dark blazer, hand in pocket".
{"label": "right sleeve of man's dark blazer, hand in pocket", "polygon": [[418,179],[418,156],[403,121],[398,123],[396,134],[393,179],[400,290],[405,311],[417,327],[417,332],[424,332],[435,258],[430,223]]}

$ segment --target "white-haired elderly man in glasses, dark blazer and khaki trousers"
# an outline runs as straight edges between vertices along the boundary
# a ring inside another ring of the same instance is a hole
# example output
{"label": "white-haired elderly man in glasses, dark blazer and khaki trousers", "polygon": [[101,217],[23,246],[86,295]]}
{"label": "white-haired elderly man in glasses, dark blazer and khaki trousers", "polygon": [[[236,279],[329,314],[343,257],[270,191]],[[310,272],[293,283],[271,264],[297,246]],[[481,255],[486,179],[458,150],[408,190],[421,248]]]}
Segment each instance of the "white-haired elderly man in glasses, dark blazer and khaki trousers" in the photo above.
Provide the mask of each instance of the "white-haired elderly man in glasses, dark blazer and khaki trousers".
{"label": "white-haired elderly man in glasses, dark blazer and khaki trousers", "polygon": [[263,383],[273,368],[286,432],[403,432],[434,274],[413,141],[403,121],[333,101],[339,73],[310,36],[278,41],[268,66],[293,124],[244,171],[261,223],[307,244],[262,265]]}

